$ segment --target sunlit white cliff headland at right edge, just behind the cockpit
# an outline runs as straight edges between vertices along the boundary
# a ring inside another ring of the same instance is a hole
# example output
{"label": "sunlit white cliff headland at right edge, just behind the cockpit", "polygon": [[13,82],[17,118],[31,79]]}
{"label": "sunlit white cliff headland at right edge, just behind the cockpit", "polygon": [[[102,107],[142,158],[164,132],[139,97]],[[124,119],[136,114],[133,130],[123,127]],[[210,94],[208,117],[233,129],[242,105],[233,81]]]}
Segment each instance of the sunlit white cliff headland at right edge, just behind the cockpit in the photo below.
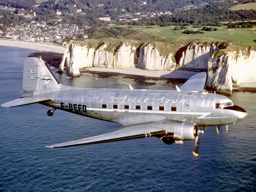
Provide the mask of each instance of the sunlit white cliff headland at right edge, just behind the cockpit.
{"label": "sunlit white cliff headland at right edge, just behind the cockpit", "polygon": [[208,86],[230,93],[232,83],[249,82],[256,82],[256,46],[229,47],[214,52],[209,58]]}

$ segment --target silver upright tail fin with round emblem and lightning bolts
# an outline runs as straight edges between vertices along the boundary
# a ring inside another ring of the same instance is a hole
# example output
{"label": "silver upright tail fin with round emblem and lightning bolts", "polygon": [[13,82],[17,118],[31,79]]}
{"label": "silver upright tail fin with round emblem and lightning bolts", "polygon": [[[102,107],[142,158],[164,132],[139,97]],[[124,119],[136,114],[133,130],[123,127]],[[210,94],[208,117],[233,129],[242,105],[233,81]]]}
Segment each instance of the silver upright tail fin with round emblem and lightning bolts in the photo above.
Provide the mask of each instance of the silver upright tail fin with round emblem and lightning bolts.
{"label": "silver upright tail fin with round emblem and lightning bolts", "polygon": [[59,90],[59,82],[41,57],[28,57],[24,60],[24,94]]}

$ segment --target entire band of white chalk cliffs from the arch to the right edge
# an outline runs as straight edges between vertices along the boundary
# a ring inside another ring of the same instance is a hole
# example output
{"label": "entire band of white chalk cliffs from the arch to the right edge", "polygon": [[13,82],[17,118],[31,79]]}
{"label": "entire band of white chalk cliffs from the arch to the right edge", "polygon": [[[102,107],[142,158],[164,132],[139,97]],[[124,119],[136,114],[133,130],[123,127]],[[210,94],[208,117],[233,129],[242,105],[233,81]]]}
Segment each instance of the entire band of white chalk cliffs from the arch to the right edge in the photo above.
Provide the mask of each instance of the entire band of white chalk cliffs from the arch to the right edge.
{"label": "entire band of white chalk cliffs from the arch to the right edge", "polygon": [[70,76],[85,67],[140,68],[146,70],[204,70],[207,85],[230,93],[232,83],[256,82],[256,46],[232,46],[231,42],[191,41],[187,44],[135,40],[85,40],[67,45],[64,65]]}

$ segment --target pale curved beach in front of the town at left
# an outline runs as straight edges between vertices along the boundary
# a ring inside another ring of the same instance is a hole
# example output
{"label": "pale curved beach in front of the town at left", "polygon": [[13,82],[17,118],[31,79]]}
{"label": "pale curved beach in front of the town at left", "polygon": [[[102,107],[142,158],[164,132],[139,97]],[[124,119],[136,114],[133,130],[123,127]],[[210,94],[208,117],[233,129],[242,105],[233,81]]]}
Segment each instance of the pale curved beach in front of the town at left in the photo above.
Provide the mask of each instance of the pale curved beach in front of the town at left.
{"label": "pale curved beach in front of the town at left", "polygon": [[8,47],[19,47],[24,49],[33,49],[39,52],[41,51],[49,51],[64,54],[66,46],[56,45],[56,44],[44,44],[38,42],[27,42],[27,41],[18,41],[18,40],[8,40],[8,39],[0,39],[0,46],[8,46]]}

